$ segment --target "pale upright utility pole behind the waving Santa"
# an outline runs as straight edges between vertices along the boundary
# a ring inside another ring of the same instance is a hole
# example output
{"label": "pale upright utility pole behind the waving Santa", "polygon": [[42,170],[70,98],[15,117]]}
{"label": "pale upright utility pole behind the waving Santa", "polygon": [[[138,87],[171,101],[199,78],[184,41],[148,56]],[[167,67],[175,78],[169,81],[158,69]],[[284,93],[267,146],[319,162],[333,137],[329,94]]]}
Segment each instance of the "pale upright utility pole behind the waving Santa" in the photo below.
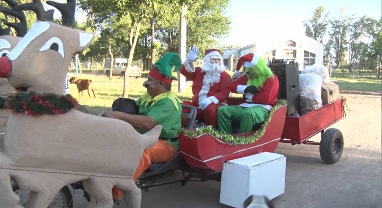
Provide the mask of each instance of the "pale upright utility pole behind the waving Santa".
{"label": "pale upright utility pole behind the waving Santa", "polygon": [[[187,5],[183,7],[179,18],[179,56],[182,63],[186,60],[186,40],[187,40]],[[178,71],[178,92],[184,93],[186,88],[186,78]]]}

